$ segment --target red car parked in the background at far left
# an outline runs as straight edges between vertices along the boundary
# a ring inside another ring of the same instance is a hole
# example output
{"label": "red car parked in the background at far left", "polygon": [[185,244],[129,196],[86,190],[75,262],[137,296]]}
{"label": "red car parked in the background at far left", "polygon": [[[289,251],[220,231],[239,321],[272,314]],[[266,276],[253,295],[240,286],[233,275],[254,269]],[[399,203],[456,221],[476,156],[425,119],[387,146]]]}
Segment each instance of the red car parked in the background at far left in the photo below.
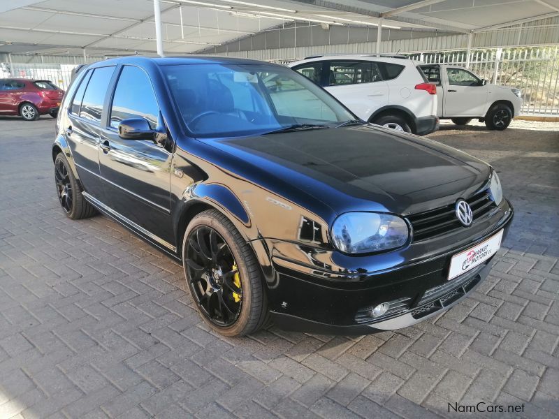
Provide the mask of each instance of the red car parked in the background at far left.
{"label": "red car parked in the background at far left", "polygon": [[48,80],[0,79],[0,115],[20,115],[34,121],[39,115],[56,118],[64,90]]}

